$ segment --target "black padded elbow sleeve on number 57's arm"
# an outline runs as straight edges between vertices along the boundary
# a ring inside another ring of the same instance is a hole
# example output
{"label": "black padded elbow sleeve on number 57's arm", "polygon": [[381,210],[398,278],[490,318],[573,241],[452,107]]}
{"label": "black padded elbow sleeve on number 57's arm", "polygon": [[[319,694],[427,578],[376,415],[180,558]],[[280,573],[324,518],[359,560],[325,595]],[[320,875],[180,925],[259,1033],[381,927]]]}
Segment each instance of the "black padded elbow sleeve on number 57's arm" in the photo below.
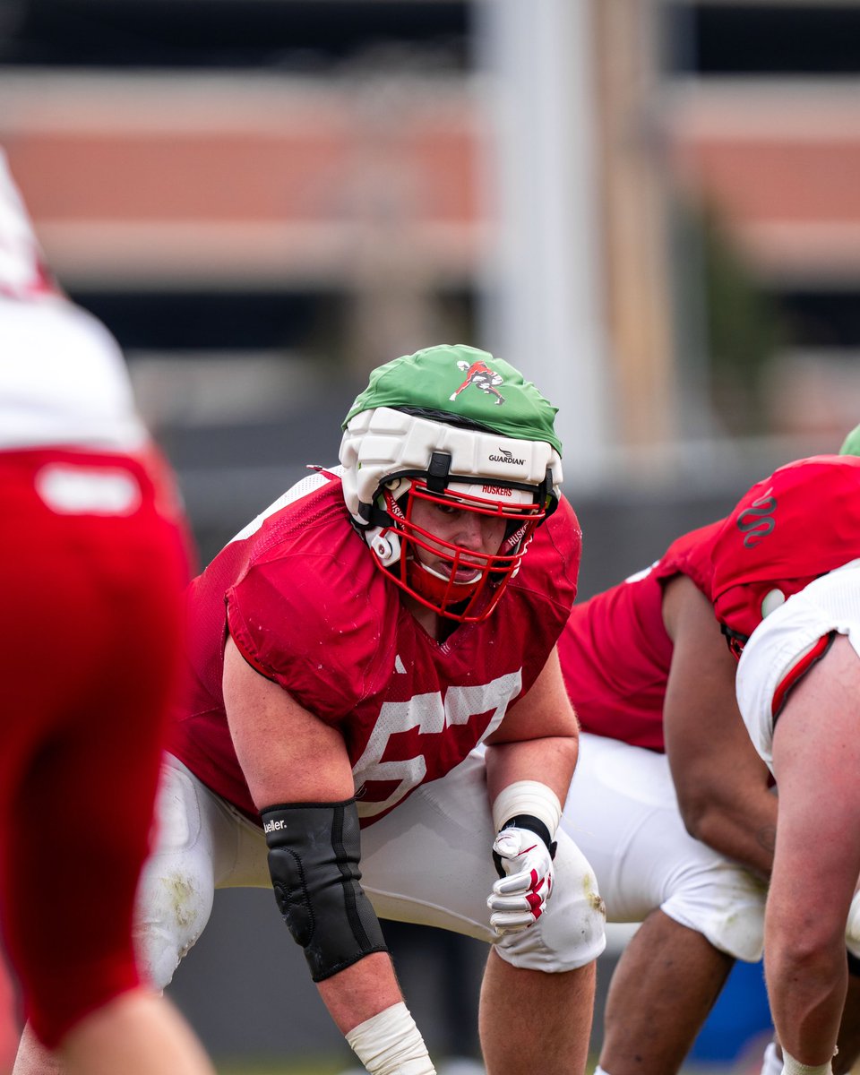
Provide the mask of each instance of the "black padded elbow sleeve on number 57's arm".
{"label": "black padded elbow sleeve on number 57's arm", "polygon": [[341,803],[286,803],[260,811],[269,873],[284,921],[314,981],[387,951],[361,888],[358,811]]}

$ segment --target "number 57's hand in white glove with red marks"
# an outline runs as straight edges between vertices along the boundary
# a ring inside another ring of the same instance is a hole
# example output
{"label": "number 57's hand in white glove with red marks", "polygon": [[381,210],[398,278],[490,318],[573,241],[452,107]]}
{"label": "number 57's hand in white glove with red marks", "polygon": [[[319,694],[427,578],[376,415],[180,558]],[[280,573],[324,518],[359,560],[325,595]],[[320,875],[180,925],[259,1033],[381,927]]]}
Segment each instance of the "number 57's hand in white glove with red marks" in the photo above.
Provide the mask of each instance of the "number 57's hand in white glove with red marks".
{"label": "number 57's hand in white glove with red marks", "polygon": [[555,883],[553,856],[530,829],[502,829],[492,850],[500,879],[487,900],[490,926],[500,935],[519,933],[546,909]]}

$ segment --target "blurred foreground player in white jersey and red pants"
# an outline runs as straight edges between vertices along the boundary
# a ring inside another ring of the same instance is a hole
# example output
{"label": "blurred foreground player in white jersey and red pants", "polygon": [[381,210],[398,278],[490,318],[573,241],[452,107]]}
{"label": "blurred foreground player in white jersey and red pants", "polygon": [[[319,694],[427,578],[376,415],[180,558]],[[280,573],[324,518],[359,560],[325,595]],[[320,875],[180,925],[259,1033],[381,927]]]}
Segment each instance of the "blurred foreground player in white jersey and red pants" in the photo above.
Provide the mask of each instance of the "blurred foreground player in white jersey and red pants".
{"label": "blurred foreground player in white jersey and red pants", "polygon": [[54,286],[2,155],[0,516],[0,922],[25,1013],[71,1072],[209,1075],[131,935],[184,531],[118,347]]}

